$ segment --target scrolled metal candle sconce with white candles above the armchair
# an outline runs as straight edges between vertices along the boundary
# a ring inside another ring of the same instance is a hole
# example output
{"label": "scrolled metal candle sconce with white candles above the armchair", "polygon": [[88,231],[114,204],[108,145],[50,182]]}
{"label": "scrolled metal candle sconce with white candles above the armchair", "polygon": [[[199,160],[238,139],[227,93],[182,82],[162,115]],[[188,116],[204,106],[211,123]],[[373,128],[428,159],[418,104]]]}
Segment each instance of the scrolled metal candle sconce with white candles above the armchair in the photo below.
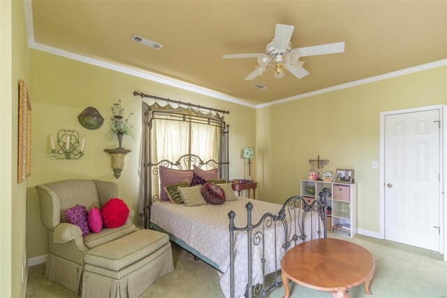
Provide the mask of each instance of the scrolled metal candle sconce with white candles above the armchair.
{"label": "scrolled metal candle sconce with white candles above the armchair", "polygon": [[80,159],[84,155],[85,137],[79,142],[79,133],[75,130],[61,129],[57,132],[57,151],[54,138],[50,136],[50,147],[56,159]]}

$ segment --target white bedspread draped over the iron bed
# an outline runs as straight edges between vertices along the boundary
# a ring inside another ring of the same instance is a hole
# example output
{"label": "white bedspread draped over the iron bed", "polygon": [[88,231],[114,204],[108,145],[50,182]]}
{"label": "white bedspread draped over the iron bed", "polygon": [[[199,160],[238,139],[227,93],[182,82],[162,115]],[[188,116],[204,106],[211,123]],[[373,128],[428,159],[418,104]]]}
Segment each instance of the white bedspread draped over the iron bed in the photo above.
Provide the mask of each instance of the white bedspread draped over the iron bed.
{"label": "white bedspread draped over the iron bed", "polygon": [[[219,265],[221,274],[221,288],[226,297],[230,297],[230,237],[228,229],[228,212],[235,211],[236,227],[247,225],[247,211],[245,205],[248,202],[254,205],[252,212],[252,224],[258,222],[264,213],[277,215],[281,205],[272,204],[265,201],[237,197],[237,201],[226,201],[223,205],[201,205],[186,207],[182,204],[172,204],[168,202],[156,202],[152,204],[151,222],[163,228],[166,232],[182,239],[199,253],[209,258]],[[286,216],[288,218],[288,214]],[[311,239],[310,214],[307,215],[306,234],[307,239]],[[298,219],[297,219],[298,220]],[[318,216],[312,215],[314,225],[314,238],[316,238],[316,225]],[[290,227],[290,225],[289,225]],[[298,227],[298,225],[297,225]],[[261,228],[262,229],[262,228]],[[255,229],[253,235],[255,236]],[[275,271],[274,263],[274,230],[265,229],[265,274]],[[300,233],[297,233],[300,234]],[[254,237],[253,237],[254,238]],[[284,256],[284,228],[277,225],[277,264]],[[292,243],[293,246],[293,243]],[[263,272],[261,266],[262,244],[252,246],[252,281],[263,282]],[[247,232],[235,232],[235,297],[244,295],[248,283],[247,277]]]}

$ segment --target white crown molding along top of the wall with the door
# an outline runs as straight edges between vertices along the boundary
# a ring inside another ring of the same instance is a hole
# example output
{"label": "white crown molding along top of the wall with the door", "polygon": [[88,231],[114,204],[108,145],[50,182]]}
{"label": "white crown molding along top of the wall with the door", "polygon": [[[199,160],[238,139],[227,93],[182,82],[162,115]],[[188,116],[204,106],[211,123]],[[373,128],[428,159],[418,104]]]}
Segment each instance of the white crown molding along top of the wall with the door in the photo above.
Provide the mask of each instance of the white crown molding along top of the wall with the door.
{"label": "white crown molding along top of the wall with the door", "polygon": [[364,78],[362,80],[355,80],[353,82],[345,83],[345,84],[342,84],[342,85],[336,85],[336,86],[327,87],[327,88],[320,89],[320,90],[315,90],[315,91],[312,91],[312,92],[298,94],[298,95],[295,95],[293,97],[286,97],[284,99],[278,99],[276,101],[271,101],[271,102],[268,102],[266,104],[258,104],[256,106],[256,108],[265,108],[267,106],[274,106],[276,104],[283,104],[284,102],[288,102],[288,101],[295,101],[295,100],[298,100],[298,99],[304,99],[306,97],[313,97],[314,95],[318,95],[318,94],[328,93],[328,92],[332,92],[332,91],[336,91],[336,90],[342,90],[342,89],[346,89],[346,88],[350,88],[350,87],[356,87],[356,86],[363,85],[363,84],[377,82],[378,80],[386,80],[388,78],[395,78],[397,76],[405,76],[405,75],[407,75],[409,73],[416,73],[417,71],[425,71],[427,69],[434,69],[434,68],[441,67],[441,66],[446,66],[446,65],[447,65],[447,59],[439,60],[439,61],[435,61],[435,62],[430,62],[430,63],[427,63],[427,64],[413,66],[413,67],[410,67],[409,69],[402,69],[400,71],[393,71],[393,72],[390,72],[390,73],[383,73],[383,74],[381,74],[379,76],[372,76],[370,78]]}

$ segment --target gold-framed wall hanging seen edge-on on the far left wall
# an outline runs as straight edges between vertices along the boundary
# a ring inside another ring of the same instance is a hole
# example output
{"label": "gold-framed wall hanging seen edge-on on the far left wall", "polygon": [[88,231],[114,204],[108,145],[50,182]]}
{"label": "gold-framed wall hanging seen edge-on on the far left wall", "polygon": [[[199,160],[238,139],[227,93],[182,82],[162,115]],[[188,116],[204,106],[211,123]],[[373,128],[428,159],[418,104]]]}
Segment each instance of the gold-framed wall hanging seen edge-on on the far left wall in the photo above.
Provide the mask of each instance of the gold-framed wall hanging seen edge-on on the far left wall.
{"label": "gold-framed wall hanging seen edge-on on the far left wall", "polygon": [[31,102],[28,85],[19,80],[19,144],[17,182],[22,183],[31,175]]}

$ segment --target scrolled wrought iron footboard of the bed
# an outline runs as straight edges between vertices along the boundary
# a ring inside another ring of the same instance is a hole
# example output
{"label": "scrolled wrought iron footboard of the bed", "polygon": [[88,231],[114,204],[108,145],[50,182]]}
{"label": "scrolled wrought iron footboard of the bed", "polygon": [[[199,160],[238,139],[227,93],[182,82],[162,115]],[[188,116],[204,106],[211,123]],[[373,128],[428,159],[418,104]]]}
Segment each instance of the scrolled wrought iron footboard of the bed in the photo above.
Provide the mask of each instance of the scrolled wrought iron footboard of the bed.
{"label": "scrolled wrought iron footboard of the bed", "polygon": [[[261,220],[253,224],[251,222],[251,212],[253,204],[248,203],[247,209],[247,225],[245,227],[235,227],[235,212],[230,211],[228,218],[230,219],[230,297],[235,297],[235,232],[247,232],[247,294],[248,297],[265,297],[270,290],[278,288],[281,282],[281,274],[279,274],[279,262],[288,248],[296,246],[307,240],[322,238],[327,236],[326,231],[326,199],[327,190],[323,190],[319,194],[320,199],[315,200],[312,204],[302,199],[302,197],[290,197],[284,202],[278,214],[265,213]],[[315,223],[316,217],[316,223]],[[310,219],[310,220],[309,220]],[[308,222],[309,220],[309,222]],[[309,227],[310,225],[310,227]],[[315,227],[314,227],[315,225]],[[269,285],[265,283],[265,275],[268,274],[266,269],[266,229],[273,230],[274,241],[274,271],[272,274],[273,281]],[[282,230],[281,230],[282,229]],[[309,233],[307,233],[309,232]],[[280,241],[281,246],[277,246],[277,241]],[[258,247],[261,251],[261,266],[262,266],[262,283],[253,285],[253,248]]]}

